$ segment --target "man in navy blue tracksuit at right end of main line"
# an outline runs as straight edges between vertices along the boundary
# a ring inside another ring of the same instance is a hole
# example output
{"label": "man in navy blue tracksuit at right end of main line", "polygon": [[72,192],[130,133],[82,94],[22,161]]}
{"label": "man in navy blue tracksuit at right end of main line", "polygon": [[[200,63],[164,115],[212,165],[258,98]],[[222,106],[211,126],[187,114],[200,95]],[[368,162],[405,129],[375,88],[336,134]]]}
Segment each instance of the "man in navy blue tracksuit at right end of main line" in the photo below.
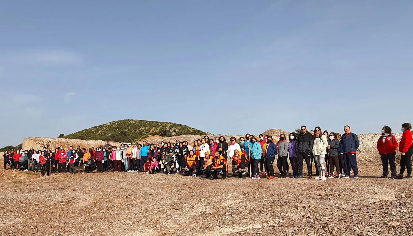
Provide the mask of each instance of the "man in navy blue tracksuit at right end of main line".
{"label": "man in navy blue tracksuit at right end of main line", "polygon": [[357,159],[356,151],[360,142],[356,134],[351,133],[350,126],[344,126],[344,134],[340,140],[340,143],[343,147],[344,154],[344,166],[346,167],[346,175],[343,178],[350,177],[350,168],[353,169],[354,178],[358,178],[358,168],[357,168]]}

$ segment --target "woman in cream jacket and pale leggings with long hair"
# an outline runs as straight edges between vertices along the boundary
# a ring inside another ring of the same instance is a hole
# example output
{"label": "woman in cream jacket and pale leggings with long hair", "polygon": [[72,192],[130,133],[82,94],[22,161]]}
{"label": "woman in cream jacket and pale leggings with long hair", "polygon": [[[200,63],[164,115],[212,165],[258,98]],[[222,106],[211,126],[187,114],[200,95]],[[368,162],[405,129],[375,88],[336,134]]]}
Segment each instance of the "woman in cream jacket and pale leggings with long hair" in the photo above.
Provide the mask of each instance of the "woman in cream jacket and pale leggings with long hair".
{"label": "woman in cream jacket and pale leggings with long hair", "polygon": [[313,145],[313,155],[316,159],[316,164],[318,168],[318,172],[320,175],[316,177],[316,180],[326,180],[325,177],[325,166],[324,166],[324,158],[327,154],[326,148],[328,147],[328,141],[325,135],[321,133],[321,128],[317,126],[314,129],[314,145]]}

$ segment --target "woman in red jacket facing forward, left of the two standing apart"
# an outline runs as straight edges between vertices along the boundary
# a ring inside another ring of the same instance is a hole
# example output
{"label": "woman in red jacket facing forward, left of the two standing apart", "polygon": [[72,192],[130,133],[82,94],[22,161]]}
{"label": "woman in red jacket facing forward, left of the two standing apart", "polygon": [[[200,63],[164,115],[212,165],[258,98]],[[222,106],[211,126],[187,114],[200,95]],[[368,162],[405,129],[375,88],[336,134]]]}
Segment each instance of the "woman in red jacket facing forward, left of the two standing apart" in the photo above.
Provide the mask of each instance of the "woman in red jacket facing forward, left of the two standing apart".
{"label": "woman in red jacket facing forward, left of the two standing apart", "polygon": [[398,146],[399,144],[397,143],[396,137],[392,135],[392,129],[390,129],[389,126],[384,126],[382,129],[382,136],[377,140],[377,150],[380,153],[383,164],[383,175],[381,178],[388,177],[388,165],[390,165],[390,171],[392,172],[390,178],[396,177],[396,162],[394,162],[394,160],[396,159],[396,150]]}

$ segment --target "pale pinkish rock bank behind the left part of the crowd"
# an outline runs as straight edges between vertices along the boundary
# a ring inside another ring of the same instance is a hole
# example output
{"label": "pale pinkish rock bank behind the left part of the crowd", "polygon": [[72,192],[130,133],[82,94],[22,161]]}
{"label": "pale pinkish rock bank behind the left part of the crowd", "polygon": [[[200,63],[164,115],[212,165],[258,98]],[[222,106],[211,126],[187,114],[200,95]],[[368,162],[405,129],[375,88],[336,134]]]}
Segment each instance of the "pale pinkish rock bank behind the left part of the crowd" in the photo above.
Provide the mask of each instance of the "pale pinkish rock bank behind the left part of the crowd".
{"label": "pale pinkish rock bank behind the left part of the crowd", "polygon": [[[30,147],[37,149],[38,147],[46,147],[52,149],[53,147],[59,147],[63,145],[65,150],[69,149],[69,146],[73,146],[76,149],[77,146],[81,148],[99,147],[100,145],[105,145],[107,142],[102,140],[81,140],[81,139],[67,139],[67,138],[47,138],[47,137],[32,137],[25,138],[23,140],[23,149],[28,150]],[[116,145],[119,147],[120,143],[110,142],[111,145]]]}

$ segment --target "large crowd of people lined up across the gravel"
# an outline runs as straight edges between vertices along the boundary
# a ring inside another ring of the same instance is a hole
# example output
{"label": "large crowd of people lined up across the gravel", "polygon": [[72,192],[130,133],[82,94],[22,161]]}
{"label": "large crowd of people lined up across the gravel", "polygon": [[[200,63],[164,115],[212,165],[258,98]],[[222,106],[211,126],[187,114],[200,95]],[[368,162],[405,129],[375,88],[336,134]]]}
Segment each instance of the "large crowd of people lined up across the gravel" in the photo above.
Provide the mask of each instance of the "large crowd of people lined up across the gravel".
{"label": "large crowd of people lined up across the gravel", "polygon": [[[383,164],[381,178],[411,179],[411,156],[413,153],[411,124],[402,124],[403,136],[400,143],[392,135],[392,129],[384,126],[377,140],[377,150]],[[307,130],[301,126],[299,133],[288,136],[280,134],[274,142],[270,135],[260,134],[258,139],[249,133],[239,138],[231,137],[227,143],[225,137],[204,138],[187,141],[149,143],[122,143],[120,147],[108,142],[100,147],[90,149],[64,150],[57,148],[43,150],[10,150],[4,154],[4,168],[7,164],[11,170],[40,171],[49,176],[50,173],[82,173],[93,172],[141,172],[141,173],[181,173],[188,176],[225,179],[229,171],[233,177],[260,179],[275,178],[274,162],[278,168],[278,176],[285,178],[303,178],[303,163],[306,162],[309,178],[326,180],[327,178],[358,178],[356,155],[360,150],[358,136],[351,132],[350,126],[344,126],[344,133],[322,131],[319,126]],[[396,172],[396,150],[401,152],[400,171]],[[288,164],[290,161],[290,165]],[[228,162],[232,169],[229,170]],[[313,162],[316,174],[313,175]],[[290,166],[292,171],[290,171]],[[404,176],[404,171],[407,175]]]}

